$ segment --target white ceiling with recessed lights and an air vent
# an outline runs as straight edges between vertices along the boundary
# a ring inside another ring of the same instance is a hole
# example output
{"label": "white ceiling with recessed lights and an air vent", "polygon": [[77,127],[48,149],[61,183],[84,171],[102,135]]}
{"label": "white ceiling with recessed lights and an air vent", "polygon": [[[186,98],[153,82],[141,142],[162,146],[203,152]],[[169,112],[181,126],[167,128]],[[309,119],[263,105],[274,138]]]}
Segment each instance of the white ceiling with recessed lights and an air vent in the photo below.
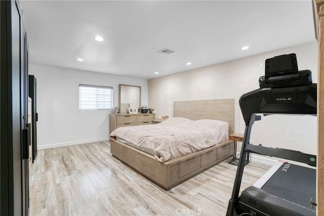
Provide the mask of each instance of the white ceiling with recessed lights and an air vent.
{"label": "white ceiling with recessed lights and an air vent", "polygon": [[[21,6],[30,63],[144,79],[315,40],[310,0],[21,1]],[[243,46],[250,49],[242,51]],[[176,52],[157,53],[164,48]]]}

